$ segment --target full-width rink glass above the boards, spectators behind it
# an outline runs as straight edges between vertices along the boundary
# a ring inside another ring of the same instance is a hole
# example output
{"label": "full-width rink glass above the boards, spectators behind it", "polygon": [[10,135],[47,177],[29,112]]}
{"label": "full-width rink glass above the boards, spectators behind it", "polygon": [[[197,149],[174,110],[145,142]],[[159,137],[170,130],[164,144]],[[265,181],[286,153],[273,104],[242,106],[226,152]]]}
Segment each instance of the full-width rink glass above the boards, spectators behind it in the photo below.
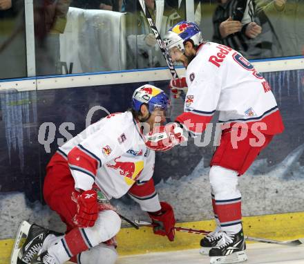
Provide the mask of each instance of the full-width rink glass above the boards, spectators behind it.
{"label": "full-width rink glass above the boards, spectators behind it", "polygon": [[[303,1],[143,1],[161,37],[173,24],[190,19],[205,40],[231,46],[247,59],[303,55]],[[29,56],[28,65],[36,63],[36,75],[167,65],[140,1],[44,0],[33,1],[33,8],[35,59]],[[1,1],[1,79],[27,75],[26,46],[34,45],[26,44],[25,25],[24,1]]]}

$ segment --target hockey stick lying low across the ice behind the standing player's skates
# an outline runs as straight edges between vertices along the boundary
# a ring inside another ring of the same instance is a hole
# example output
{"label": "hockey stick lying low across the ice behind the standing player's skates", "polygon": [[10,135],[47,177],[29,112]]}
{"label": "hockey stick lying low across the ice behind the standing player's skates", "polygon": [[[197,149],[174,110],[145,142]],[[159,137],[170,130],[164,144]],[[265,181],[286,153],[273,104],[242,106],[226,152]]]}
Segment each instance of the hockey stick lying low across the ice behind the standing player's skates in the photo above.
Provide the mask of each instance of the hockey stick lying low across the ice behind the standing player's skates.
{"label": "hockey stick lying low across the ice behind the standing player's skates", "polygon": [[[134,222],[139,226],[153,227],[153,224],[149,223],[149,222],[139,221],[139,220],[135,220]],[[191,234],[207,235],[207,234],[211,233],[211,231],[192,229],[192,228],[187,228],[187,227],[174,227],[174,228],[176,231],[186,232],[186,233],[191,233]],[[244,238],[247,241],[255,241],[255,242],[260,242],[260,243],[268,243],[268,244],[276,244],[276,245],[287,245],[287,246],[292,246],[292,247],[304,244],[304,238],[298,238],[293,241],[274,241],[271,239],[254,238],[251,236],[244,236]]]}

